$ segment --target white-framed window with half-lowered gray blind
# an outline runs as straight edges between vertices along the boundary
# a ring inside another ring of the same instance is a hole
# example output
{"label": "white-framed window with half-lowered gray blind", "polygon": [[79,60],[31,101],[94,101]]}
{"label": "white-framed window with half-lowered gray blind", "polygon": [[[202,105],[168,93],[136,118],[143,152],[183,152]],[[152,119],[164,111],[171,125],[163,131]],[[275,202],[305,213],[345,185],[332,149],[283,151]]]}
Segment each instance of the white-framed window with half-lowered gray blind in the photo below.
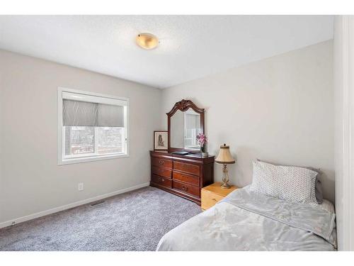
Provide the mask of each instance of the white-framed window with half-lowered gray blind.
{"label": "white-framed window with half-lowered gray blind", "polygon": [[59,165],[127,156],[128,104],[128,99],[59,88]]}

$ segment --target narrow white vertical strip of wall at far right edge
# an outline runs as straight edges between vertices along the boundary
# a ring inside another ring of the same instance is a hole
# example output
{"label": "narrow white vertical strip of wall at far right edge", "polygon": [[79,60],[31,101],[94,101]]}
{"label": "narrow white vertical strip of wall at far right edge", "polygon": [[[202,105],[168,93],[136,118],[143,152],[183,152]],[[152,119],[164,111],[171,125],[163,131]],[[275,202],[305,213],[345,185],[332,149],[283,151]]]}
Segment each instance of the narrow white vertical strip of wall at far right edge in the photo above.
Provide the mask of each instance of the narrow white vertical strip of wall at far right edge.
{"label": "narrow white vertical strip of wall at far right edge", "polygon": [[354,16],[334,23],[336,222],[338,250],[354,250]]}

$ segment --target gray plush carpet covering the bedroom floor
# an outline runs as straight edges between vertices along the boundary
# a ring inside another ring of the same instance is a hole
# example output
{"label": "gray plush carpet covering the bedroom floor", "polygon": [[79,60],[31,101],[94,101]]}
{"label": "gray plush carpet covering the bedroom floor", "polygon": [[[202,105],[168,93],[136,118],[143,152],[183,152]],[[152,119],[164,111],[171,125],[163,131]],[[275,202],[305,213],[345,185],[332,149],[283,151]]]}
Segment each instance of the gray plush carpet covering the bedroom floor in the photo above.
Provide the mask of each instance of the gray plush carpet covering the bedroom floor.
{"label": "gray plush carpet covering the bedroom floor", "polygon": [[200,206],[147,187],[0,229],[0,250],[155,250]]}

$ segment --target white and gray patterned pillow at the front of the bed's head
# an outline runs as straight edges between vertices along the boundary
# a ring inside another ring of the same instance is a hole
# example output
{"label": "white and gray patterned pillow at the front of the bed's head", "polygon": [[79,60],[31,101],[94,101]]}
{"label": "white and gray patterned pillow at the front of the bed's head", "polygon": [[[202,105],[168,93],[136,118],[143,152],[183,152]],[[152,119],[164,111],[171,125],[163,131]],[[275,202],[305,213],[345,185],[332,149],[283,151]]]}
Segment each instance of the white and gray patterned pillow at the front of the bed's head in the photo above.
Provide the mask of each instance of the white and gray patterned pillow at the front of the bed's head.
{"label": "white and gray patterned pillow at the front of the bed's head", "polygon": [[287,201],[315,204],[317,172],[295,166],[253,161],[250,190]]}

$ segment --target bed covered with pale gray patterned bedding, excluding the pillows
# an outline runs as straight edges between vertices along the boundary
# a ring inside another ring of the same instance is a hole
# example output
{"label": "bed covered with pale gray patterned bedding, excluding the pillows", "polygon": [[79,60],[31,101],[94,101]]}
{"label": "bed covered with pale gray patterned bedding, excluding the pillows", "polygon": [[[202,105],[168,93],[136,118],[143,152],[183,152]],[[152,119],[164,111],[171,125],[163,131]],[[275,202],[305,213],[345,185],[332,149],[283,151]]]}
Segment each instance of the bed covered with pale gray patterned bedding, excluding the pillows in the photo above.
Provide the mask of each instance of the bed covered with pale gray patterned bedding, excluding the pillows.
{"label": "bed covered with pale gray patterned bedding, excluding the pillows", "polygon": [[156,250],[336,250],[333,204],[237,189],[166,233]]}

